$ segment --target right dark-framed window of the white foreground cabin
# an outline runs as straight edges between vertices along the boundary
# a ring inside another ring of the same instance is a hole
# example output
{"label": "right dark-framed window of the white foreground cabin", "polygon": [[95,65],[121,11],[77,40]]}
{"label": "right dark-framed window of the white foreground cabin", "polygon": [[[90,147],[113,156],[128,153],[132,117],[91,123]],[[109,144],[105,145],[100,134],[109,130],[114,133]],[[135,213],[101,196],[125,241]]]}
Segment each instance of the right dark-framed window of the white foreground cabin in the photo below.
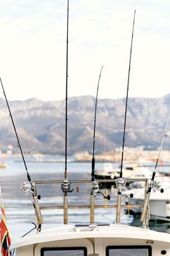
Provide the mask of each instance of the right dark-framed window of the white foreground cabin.
{"label": "right dark-framed window of the white foreground cabin", "polygon": [[107,256],[151,256],[151,246],[107,246]]}

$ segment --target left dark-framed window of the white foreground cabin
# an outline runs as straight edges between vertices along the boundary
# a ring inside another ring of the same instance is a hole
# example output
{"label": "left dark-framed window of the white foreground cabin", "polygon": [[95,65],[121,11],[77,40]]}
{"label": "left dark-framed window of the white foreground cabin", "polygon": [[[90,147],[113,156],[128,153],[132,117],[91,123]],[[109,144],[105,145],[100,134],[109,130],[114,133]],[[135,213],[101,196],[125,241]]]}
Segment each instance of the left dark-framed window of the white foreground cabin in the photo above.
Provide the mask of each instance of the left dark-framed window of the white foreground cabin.
{"label": "left dark-framed window of the white foreground cabin", "polygon": [[42,248],[41,256],[87,256],[87,248],[85,247]]}

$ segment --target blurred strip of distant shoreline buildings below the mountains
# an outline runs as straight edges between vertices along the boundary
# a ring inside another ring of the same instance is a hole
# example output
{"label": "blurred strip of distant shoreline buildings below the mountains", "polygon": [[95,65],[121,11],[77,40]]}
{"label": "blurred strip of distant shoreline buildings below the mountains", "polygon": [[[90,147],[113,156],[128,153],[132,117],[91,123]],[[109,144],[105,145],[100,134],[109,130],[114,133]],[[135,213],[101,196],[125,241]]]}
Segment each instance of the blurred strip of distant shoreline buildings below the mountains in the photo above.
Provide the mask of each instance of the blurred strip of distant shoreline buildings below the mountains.
{"label": "blurred strip of distant shoreline buildings below the mountains", "polygon": [[[10,154],[6,158],[11,157],[15,159],[15,162],[21,162],[20,154]],[[26,154],[27,162],[64,162],[65,158],[63,155],[58,154]],[[117,151],[104,152],[101,154],[96,154],[96,162],[120,162],[121,148]],[[158,151],[144,151],[137,148],[125,148],[124,151],[124,162],[136,162],[138,164],[142,163],[153,163],[156,162],[158,157]],[[70,155],[68,157],[68,162],[91,162],[92,154],[88,151],[77,152],[76,154]],[[164,162],[170,163],[170,151],[162,151],[161,157],[159,159],[159,164]]]}

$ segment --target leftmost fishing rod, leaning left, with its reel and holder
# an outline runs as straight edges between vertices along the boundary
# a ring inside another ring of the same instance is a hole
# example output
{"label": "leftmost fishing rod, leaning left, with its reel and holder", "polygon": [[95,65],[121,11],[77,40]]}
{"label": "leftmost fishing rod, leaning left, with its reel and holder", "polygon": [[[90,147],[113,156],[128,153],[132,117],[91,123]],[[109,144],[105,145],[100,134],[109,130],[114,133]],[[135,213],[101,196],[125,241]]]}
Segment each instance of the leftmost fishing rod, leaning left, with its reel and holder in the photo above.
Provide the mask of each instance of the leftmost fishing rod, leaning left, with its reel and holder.
{"label": "leftmost fishing rod, leaning left, with its reel and holder", "polygon": [[4,93],[4,97],[5,97],[5,100],[7,102],[7,108],[9,110],[9,116],[11,118],[11,121],[12,121],[12,125],[13,125],[13,128],[15,130],[15,135],[16,135],[16,138],[17,138],[17,141],[18,141],[18,147],[20,148],[20,154],[23,158],[23,164],[25,166],[25,169],[26,169],[26,176],[28,178],[28,182],[23,182],[23,185],[22,185],[22,189],[24,192],[26,192],[26,194],[28,194],[29,191],[32,192],[32,203],[33,203],[33,206],[34,206],[34,211],[35,211],[35,214],[36,214],[36,221],[37,221],[37,225],[36,225],[36,230],[37,231],[40,231],[41,230],[41,226],[42,226],[42,223],[43,223],[43,219],[42,219],[42,214],[41,214],[41,211],[39,209],[39,203],[38,203],[38,199],[40,198],[40,196],[36,196],[35,195],[35,189],[34,189],[34,184],[33,182],[31,181],[31,176],[30,174],[28,173],[28,168],[27,168],[27,165],[26,165],[26,160],[25,160],[25,157],[23,155],[23,150],[20,146],[20,140],[19,140],[19,137],[18,137],[18,132],[17,132],[17,129],[15,127],[15,122],[14,122],[14,119],[12,118],[12,113],[11,113],[11,110],[9,108],[9,102],[7,100],[7,95],[4,91],[4,86],[3,86],[3,83],[1,81],[1,78],[0,78],[0,82],[1,82],[1,88],[3,90],[3,93]]}

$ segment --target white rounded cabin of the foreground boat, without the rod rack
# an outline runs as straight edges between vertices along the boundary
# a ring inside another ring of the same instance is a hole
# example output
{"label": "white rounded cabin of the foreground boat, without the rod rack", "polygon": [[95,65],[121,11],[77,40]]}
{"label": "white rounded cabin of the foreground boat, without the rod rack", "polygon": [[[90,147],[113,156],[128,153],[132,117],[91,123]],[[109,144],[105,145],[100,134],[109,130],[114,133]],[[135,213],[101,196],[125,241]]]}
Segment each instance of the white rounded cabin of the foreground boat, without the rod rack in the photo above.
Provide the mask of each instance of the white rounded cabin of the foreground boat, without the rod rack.
{"label": "white rounded cabin of the foreground boat, without the rod rack", "polygon": [[170,254],[169,234],[122,225],[55,227],[22,238],[18,256],[158,256]]}

